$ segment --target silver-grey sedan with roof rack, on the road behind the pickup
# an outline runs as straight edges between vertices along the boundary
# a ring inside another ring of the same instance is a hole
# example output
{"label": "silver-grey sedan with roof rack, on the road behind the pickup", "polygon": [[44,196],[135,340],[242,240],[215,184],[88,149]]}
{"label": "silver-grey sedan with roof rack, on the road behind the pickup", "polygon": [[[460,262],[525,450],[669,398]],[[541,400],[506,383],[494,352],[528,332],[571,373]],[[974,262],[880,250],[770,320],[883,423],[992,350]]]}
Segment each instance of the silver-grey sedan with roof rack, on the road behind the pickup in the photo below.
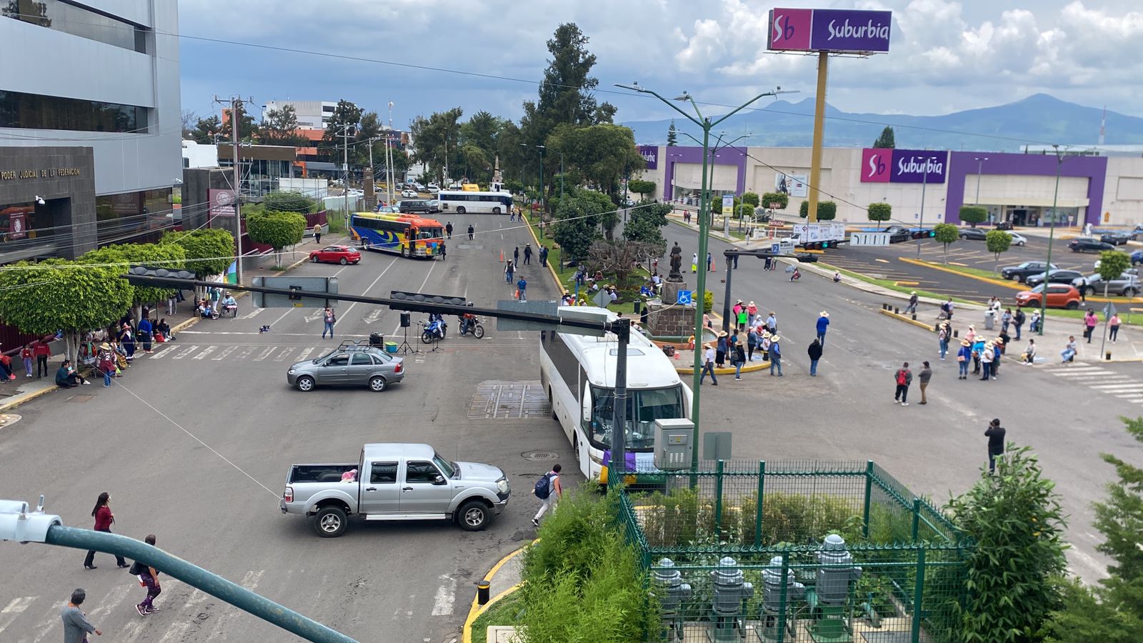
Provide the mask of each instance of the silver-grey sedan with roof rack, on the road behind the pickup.
{"label": "silver-grey sedan with roof rack, on the road behind the pickup", "polygon": [[363,342],[342,342],[334,351],[293,364],[286,371],[286,381],[302,392],[326,386],[369,387],[381,392],[403,379],[402,358]]}

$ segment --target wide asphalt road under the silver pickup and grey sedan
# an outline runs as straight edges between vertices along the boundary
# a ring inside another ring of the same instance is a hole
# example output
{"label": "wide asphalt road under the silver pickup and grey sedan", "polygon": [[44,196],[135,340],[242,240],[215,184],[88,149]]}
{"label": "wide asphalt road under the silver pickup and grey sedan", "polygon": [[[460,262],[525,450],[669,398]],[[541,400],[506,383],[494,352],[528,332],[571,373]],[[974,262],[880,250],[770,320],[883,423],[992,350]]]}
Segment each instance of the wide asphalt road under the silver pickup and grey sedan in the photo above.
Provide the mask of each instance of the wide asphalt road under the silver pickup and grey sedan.
{"label": "wide asphalt road under the silver pickup and grey sedan", "polygon": [[[366,253],[360,265],[305,264],[295,273],[336,275],[346,293],[510,299],[514,286],[504,280],[499,252],[511,254],[517,243],[522,248],[527,231],[506,216],[447,219],[457,231],[474,221],[478,231],[472,241],[454,233],[447,261]],[[525,269],[533,299],[555,294],[538,265]],[[552,461],[526,455],[567,458],[570,451],[547,411],[537,410],[539,419],[504,410],[491,416],[474,400],[482,382],[539,379],[534,338],[498,333],[494,320],[486,320],[481,341],[457,338],[451,318],[440,352],[406,358],[402,383],[381,394],[302,394],[287,387],[288,366],[337,343],[321,340],[320,311],[251,310],[248,299],[239,302],[238,319],[181,333],[138,358],[111,389],[81,387],[21,407],[23,419],[0,429],[2,497],[46,494],[48,511],[89,527],[95,498],[107,491],[117,532],[154,533],[168,551],[360,641],[454,640],[472,582],[534,535],[530,489]],[[350,304],[337,312],[337,340],[377,331],[393,339],[398,327],[397,311]],[[271,332],[259,334],[264,324]],[[410,331],[410,343],[418,343],[416,327]],[[448,458],[499,466],[512,501],[478,533],[433,522],[369,523],[321,539],[303,517],[279,513],[291,462],[355,461],[366,442],[427,442]],[[569,483],[575,469],[566,467]],[[133,606],[143,597],[138,584],[107,555],[96,556],[94,571],[83,570],[82,559],[77,550],[0,543],[0,641],[58,641],[58,609],[75,587],[87,590],[83,608],[103,641],[293,640],[175,580],[162,584],[162,611],[141,618]]]}

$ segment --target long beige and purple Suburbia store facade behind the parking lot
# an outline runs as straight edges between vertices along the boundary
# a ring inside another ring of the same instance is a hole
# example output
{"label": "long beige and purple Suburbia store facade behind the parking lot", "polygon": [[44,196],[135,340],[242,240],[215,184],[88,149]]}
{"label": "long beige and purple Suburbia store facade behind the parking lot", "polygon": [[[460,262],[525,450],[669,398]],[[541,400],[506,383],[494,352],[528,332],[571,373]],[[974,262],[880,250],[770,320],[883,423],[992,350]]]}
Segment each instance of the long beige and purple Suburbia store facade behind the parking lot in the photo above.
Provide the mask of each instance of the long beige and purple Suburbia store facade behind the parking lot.
{"label": "long beige and purple Suburbia store facade behind the parking lot", "polygon": [[[641,145],[639,150],[647,160],[642,177],[655,182],[654,198],[697,204],[702,148]],[[1068,153],[1060,160],[1044,151],[826,148],[820,198],[838,205],[838,221],[853,223],[868,221],[865,207],[871,203],[892,205],[894,221],[906,224],[960,223],[964,205],[986,208],[993,223],[1042,227],[1053,219],[1057,225],[1143,223],[1143,156],[1095,153]],[[808,196],[809,148],[722,148],[710,152],[708,164],[716,201],[727,193],[784,191],[790,205],[783,212],[797,213]]]}

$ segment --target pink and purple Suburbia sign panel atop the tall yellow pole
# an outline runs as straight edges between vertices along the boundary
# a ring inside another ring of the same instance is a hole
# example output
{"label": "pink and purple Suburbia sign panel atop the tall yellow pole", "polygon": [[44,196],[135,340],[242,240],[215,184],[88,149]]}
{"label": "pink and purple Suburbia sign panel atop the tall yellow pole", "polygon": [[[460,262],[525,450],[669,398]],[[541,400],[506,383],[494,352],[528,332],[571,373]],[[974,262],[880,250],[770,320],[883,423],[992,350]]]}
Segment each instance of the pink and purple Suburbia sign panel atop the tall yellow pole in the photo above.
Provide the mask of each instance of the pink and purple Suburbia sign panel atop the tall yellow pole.
{"label": "pink and purple Suburbia sign panel atop the tall yellow pole", "polygon": [[767,49],[873,54],[889,50],[893,11],[770,9]]}

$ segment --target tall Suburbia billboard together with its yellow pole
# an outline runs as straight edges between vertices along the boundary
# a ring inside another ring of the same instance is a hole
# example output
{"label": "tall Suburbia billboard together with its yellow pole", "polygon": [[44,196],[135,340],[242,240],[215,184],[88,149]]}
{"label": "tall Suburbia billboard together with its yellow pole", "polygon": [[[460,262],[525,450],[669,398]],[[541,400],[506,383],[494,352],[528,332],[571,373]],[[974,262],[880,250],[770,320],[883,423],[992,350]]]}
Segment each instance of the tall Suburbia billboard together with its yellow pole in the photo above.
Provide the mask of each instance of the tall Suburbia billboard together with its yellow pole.
{"label": "tall Suburbia billboard together with its yellow pole", "polygon": [[889,50],[892,11],[846,9],[770,9],[767,48],[772,51],[817,54],[817,97],[814,105],[814,148],[809,165],[809,223],[817,222],[825,138],[825,86],[830,54],[865,56]]}

